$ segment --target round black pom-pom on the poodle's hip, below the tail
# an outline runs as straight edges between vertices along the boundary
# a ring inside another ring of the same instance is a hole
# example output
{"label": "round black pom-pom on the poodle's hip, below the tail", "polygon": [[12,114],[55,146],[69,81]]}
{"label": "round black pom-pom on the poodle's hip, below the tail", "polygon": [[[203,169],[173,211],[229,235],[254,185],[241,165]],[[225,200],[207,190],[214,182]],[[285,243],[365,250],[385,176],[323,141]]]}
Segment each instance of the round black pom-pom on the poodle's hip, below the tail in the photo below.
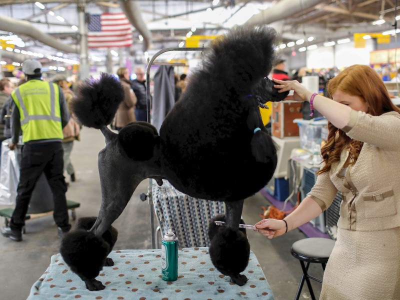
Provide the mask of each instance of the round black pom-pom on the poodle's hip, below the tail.
{"label": "round black pom-pom on the poodle's hip, below the tail", "polygon": [[[144,123],[144,124],[143,124]],[[146,122],[132,122],[118,134],[118,141],[129,158],[137,161],[148,160],[159,144],[159,136],[153,126]]]}

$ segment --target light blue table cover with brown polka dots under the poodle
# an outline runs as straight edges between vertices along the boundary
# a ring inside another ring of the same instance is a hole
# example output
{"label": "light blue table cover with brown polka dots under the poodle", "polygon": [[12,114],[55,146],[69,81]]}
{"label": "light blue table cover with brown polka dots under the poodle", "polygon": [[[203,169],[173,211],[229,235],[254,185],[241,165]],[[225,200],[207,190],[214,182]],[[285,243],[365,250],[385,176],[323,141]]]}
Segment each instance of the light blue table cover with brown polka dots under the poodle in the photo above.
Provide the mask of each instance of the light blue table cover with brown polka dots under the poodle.
{"label": "light blue table cover with brown polka dots under the poodle", "polygon": [[27,300],[273,300],[272,291],[252,251],[247,268],[242,272],[248,278],[243,286],[231,283],[229,276],[214,268],[208,247],[178,250],[176,281],[161,279],[160,249],[114,250],[108,257],[113,259],[114,265],[103,267],[96,277],[105,288],[89,291],[59,253],[52,255],[50,265],[31,287]]}

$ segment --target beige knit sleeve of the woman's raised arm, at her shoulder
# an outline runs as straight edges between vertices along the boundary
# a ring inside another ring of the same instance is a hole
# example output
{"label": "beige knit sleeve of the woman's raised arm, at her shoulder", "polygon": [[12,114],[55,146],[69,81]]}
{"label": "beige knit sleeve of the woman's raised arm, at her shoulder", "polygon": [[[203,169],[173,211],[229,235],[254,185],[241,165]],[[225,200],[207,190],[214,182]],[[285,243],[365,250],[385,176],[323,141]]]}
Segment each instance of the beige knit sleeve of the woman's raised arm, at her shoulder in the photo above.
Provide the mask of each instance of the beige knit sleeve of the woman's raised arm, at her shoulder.
{"label": "beige knit sleeve of the woman's raised arm, at her shoulder", "polygon": [[353,139],[379,148],[400,150],[400,114],[397,112],[372,116],[351,110],[350,119],[342,130]]}

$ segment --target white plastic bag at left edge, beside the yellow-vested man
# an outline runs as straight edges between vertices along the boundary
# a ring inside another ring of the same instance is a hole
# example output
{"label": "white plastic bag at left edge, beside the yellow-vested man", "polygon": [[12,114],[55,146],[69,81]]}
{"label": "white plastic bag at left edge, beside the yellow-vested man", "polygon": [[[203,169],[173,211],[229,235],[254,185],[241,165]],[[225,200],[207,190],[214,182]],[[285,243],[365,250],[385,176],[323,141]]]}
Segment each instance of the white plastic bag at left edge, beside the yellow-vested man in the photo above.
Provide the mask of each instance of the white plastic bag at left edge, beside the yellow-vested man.
{"label": "white plastic bag at left edge, beside the yellow-vested man", "polygon": [[10,150],[10,138],[1,142],[0,160],[0,204],[15,204],[16,188],[19,181],[17,148]]}

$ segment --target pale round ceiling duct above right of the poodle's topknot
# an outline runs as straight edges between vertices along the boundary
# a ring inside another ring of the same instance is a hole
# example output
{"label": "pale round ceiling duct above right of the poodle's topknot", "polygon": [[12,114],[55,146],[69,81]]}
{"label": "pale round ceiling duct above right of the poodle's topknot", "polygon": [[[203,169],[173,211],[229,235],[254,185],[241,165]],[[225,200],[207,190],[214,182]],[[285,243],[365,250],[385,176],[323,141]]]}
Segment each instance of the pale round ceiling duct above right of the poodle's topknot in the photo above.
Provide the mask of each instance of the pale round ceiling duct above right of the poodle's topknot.
{"label": "pale round ceiling duct above right of the poodle's topknot", "polygon": [[290,17],[320,2],[323,2],[323,0],[281,0],[275,5],[253,15],[246,23],[250,25],[270,24]]}

